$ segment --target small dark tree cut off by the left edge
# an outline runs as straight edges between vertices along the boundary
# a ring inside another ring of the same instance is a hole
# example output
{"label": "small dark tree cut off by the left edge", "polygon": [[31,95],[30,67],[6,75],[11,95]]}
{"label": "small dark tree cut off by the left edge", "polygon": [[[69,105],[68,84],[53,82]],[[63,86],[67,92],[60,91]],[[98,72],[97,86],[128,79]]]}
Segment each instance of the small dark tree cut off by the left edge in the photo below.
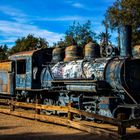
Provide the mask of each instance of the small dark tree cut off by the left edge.
{"label": "small dark tree cut off by the left edge", "polygon": [[8,59],[8,47],[7,45],[0,46],[0,60],[7,60]]}

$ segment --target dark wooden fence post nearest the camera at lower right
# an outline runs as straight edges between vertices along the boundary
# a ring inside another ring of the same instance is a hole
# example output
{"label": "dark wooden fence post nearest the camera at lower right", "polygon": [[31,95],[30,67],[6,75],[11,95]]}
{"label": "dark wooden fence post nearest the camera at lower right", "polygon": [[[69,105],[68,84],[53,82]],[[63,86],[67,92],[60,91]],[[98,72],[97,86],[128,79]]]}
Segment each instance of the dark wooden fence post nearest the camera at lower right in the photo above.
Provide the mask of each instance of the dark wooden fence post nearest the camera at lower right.
{"label": "dark wooden fence post nearest the camera at lower right", "polygon": [[[125,115],[123,113],[118,114],[118,119],[123,121],[125,119]],[[126,135],[126,127],[122,124],[118,126],[118,139],[124,140]]]}

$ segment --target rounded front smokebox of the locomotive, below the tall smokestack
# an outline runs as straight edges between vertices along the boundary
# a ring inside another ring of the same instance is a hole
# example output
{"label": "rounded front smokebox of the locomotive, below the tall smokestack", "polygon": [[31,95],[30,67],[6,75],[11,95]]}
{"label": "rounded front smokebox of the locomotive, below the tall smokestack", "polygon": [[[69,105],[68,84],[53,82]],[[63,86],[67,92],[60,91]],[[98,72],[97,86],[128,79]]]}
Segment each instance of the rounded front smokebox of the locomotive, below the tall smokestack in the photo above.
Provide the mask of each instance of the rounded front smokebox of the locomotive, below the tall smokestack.
{"label": "rounded front smokebox of the locomotive, below the tall smokestack", "polygon": [[[114,58],[105,69],[105,80],[113,90],[130,94],[140,92],[140,60]],[[127,92],[128,92],[127,91]]]}

